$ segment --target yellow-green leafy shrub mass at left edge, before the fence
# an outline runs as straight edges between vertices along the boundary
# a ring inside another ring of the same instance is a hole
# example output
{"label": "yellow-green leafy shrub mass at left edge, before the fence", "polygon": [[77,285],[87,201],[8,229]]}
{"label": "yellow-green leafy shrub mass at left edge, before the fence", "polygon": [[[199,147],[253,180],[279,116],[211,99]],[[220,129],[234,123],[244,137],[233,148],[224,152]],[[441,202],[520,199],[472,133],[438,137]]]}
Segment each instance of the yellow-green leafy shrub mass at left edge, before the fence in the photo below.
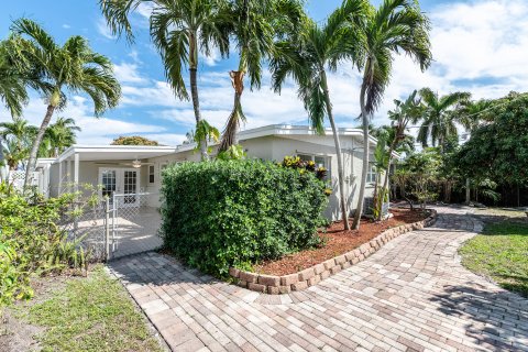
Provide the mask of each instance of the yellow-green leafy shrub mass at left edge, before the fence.
{"label": "yellow-green leafy shrub mass at left edge, before the fence", "polygon": [[44,199],[23,196],[0,183],[0,308],[33,296],[32,276],[86,270],[86,254],[58,226],[78,194]]}

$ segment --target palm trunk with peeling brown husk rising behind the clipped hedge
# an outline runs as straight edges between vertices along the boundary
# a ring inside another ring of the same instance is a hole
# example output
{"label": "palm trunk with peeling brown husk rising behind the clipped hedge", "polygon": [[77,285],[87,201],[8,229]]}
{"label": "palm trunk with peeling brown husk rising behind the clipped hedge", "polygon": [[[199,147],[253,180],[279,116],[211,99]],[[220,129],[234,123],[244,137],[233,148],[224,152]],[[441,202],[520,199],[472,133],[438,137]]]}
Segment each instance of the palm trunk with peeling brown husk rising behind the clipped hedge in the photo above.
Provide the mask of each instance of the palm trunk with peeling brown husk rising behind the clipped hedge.
{"label": "palm trunk with peeling brown husk rising behind the clipped hedge", "polygon": [[226,152],[231,145],[237,144],[237,132],[239,131],[240,122],[245,120],[241,102],[242,92],[244,91],[244,72],[232,70],[229,73],[229,77],[231,77],[231,84],[234,89],[233,111],[231,111],[223,130],[219,152]]}

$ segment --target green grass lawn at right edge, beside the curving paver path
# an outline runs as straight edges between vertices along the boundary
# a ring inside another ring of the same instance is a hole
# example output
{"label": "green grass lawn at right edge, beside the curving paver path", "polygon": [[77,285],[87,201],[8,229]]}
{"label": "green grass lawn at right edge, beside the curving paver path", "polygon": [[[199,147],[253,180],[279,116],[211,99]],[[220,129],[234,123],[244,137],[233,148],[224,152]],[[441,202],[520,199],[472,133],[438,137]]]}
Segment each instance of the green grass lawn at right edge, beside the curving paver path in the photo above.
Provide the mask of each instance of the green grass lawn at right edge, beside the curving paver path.
{"label": "green grass lawn at right edge, beside the curving paver path", "polygon": [[488,223],[459,250],[462,264],[502,287],[528,297],[528,224]]}

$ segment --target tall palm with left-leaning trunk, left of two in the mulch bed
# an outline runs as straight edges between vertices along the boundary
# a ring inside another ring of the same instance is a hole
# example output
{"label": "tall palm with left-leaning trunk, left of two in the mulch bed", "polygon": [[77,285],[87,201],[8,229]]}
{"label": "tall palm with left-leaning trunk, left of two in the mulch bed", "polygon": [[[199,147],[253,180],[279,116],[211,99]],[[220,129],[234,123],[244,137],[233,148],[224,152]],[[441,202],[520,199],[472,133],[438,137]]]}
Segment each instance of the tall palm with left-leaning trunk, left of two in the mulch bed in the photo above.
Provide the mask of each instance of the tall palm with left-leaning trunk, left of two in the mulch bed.
{"label": "tall palm with left-leaning trunk, left of two in the mulch bed", "polygon": [[[273,73],[273,86],[280,92],[287,77],[298,85],[298,95],[305,103],[312,128],[324,133],[324,119],[332,128],[338,158],[338,182],[344,229],[350,230],[341,144],[339,141],[332,103],[327,81],[327,69],[333,72],[343,59],[354,62],[359,56],[359,45],[350,44],[350,37],[358,37],[356,29],[367,11],[367,2],[346,0],[322,25],[305,19],[298,33],[276,43],[276,53],[270,66]],[[353,25],[350,25],[350,22]]]}

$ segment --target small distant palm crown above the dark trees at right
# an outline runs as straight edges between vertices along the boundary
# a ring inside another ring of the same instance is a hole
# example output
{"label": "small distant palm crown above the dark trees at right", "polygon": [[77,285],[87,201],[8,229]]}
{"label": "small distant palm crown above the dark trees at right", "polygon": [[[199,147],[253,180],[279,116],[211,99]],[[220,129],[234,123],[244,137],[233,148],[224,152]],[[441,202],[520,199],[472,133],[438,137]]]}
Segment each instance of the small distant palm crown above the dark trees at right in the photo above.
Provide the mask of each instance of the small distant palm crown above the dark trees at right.
{"label": "small distant palm crown above the dark trees at right", "polygon": [[429,88],[420,89],[421,101],[426,106],[424,122],[418,131],[417,140],[424,146],[428,146],[430,140],[432,146],[440,146],[443,152],[444,143],[450,136],[458,135],[455,125],[457,116],[453,109],[462,101],[470,98],[469,92],[452,92],[440,97]]}

